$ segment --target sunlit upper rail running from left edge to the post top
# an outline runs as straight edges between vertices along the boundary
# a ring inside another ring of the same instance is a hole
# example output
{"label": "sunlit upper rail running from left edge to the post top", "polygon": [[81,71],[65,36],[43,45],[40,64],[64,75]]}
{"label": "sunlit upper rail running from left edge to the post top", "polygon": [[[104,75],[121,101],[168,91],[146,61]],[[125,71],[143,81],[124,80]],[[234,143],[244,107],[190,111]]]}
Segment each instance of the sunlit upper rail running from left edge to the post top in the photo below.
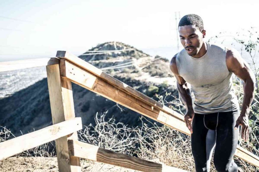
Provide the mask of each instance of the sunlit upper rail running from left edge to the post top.
{"label": "sunlit upper rail running from left edge to the post top", "polygon": [[59,64],[58,58],[39,58],[0,62],[0,72]]}

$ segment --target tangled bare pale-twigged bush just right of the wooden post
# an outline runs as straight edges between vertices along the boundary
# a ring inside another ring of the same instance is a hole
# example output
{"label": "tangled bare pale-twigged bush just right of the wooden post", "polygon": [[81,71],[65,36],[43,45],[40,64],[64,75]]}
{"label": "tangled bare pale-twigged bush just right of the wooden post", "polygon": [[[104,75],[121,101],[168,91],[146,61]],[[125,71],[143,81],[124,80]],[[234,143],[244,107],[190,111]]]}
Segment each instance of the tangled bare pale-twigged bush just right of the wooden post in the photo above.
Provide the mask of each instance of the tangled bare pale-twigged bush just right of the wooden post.
{"label": "tangled bare pale-twigged bush just right of the wooden post", "polygon": [[78,131],[78,139],[92,145],[96,145],[108,150],[126,153],[131,155],[128,148],[134,149],[134,128],[129,128],[121,122],[115,123],[114,118],[105,120],[105,113],[96,113],[93,127],[91,124],[84,126]]}

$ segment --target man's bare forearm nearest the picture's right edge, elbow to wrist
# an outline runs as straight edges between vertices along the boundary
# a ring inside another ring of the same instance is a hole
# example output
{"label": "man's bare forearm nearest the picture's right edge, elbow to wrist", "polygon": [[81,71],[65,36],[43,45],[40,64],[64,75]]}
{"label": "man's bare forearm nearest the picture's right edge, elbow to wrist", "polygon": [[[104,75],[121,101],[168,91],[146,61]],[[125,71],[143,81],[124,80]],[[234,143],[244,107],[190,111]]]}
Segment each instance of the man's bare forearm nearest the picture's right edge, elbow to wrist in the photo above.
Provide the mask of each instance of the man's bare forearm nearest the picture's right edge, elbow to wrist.
{"label": "man's bare forearm nearest the picture's right edge, elbow to wrist", "polygon": [[255,80],[247,80],[244,81],[244,97],[243,97],[243,104],[242,104],[242,110],[240,115],[244,116],[249,114],[249,107],[251,105],[251,102],[253,101],[253,94],[254,94],[254,88],[255,88]]}

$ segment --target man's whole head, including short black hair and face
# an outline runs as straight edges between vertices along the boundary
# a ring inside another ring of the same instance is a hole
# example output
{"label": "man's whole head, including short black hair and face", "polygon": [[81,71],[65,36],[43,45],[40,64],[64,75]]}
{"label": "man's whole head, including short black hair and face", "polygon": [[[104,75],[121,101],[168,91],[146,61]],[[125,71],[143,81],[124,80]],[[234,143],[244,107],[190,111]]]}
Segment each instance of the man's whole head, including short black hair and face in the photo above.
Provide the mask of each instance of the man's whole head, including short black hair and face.
{"label": "man's whole head, including short black hair and face", "polygon": [[185,15],[178,25],[180,39],[183,47],[190,56],[196,56],[203,44],[206,31],[203,28],[203,21],[196,14]]}

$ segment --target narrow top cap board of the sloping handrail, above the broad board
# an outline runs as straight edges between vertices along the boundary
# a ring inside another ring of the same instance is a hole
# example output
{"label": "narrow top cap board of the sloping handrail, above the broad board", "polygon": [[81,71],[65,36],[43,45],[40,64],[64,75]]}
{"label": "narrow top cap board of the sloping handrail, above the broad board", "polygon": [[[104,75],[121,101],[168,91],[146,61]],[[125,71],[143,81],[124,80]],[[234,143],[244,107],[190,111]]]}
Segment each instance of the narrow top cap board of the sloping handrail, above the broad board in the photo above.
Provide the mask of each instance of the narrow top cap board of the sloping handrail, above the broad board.
{"label": "narrow top cap board of the sloping handrail, above the broad board", "polygon": [[66,52],[66,51],[57,51],[56,57],[60,58],[60,59],[66,59],[66,60],[72,62],[72,63],[76,64],[77,66],[87,70],[89,73],[92,73],[95,76],[98,76],[98,77],[102,78],[103,80],[109,82],[110,84],[116,86],[117,88],[131,94],[132,96],[138,97],[139,99],[142,99],[145,102],[152,104],[153,107],[159,108],[161,111],[169,113],[170,115],[175,116],[179,120],[184,121],[184,117],[181,114],[175,112],[174,110],[172,110],[170,108],[167,108],[166,106],[163,106],[161,103],[151,99],[150,97],[148,97],[145,94],[137,91],[136,89],[128,86],[127,84],[121,82],[120,80],[108,75],[104,71],[94,67],[93,65],[78,58],[77,56],[75,56],[69,52]]}

